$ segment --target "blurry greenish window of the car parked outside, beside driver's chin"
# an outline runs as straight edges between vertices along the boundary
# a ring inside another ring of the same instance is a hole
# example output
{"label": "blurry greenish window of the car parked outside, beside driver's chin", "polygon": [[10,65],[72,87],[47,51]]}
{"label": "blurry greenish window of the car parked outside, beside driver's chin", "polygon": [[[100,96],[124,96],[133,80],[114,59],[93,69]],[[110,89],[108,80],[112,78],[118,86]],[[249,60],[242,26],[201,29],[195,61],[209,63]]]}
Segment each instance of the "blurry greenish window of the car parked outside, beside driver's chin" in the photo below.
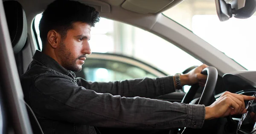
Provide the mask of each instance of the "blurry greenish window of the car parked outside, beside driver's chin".
{"label": "blurry greenish window of the car parked outside, beside driver's chin", "polygon": [[84,78],[87,81],[107,82],[143,77],[155,78],[157,75],[121,61],[88,58],[82,70],[76,72],[76,77]]}

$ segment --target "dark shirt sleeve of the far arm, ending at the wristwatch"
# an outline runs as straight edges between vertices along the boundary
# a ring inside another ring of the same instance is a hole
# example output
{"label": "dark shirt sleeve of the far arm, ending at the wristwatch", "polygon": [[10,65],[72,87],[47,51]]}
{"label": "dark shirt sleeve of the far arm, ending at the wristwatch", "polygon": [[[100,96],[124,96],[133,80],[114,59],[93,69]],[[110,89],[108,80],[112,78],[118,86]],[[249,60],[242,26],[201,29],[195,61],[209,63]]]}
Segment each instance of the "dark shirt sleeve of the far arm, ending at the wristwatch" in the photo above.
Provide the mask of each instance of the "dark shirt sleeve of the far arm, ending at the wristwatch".
{"label": "dark shirt sleeve of the far arm, ending at the wristwatch", "polygon": [[159,78],[137,78],[125,81],[114,82],[92,82],[83,78],[76,78],[77,84],[86,89],[100,93],[110,93],[125,97],[154,98],[175,92],[172,76]]}

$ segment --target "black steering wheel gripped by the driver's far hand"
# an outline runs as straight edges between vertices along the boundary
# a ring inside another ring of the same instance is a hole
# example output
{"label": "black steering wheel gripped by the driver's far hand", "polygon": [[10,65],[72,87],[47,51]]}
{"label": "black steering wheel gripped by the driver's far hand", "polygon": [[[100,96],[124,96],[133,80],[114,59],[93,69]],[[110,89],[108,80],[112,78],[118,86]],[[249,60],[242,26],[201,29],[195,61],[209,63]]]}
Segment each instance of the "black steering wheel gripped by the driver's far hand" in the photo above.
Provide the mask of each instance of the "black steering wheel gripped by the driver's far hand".
{"label": "black steering wheel gripped by the driver's far hand", "polygon": [[[201,98],[198,102],[198,104],[204,104],[207,106],[210,99],[212,98],[215,85],[217,83],[218,78],[218,71],[215,67],[207,67],[202,70],[201,74],[207,75],[207,81],[204,87],[204,91],[201,95]],[[198,84],[192,85],[192,87],[189,89],[189,92],[186,93],[181,103],[189,103],[194,98],[195,93],[198,89]],[[192,104],[195,104],[195,102],[192,102]]]}

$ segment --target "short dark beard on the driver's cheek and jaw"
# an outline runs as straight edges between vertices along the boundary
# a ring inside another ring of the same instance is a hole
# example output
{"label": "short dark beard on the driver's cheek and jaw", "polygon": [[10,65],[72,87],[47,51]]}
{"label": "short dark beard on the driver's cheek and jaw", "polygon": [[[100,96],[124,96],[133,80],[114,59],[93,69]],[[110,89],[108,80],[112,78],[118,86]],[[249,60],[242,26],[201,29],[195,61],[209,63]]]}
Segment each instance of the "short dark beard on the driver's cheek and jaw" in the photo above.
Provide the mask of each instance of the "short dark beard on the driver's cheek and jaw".
{"label": "short dark beard on the driver's cheek and jaw", "polygon": [[76,61],[81,57],[75,58],[72,56],[70,50],[67,49],[63,41],[61,41],[59,49],[59,57],[61,59],[62,67],[67,70],[79,72],[82,70],[82,67],[76,64]]}

